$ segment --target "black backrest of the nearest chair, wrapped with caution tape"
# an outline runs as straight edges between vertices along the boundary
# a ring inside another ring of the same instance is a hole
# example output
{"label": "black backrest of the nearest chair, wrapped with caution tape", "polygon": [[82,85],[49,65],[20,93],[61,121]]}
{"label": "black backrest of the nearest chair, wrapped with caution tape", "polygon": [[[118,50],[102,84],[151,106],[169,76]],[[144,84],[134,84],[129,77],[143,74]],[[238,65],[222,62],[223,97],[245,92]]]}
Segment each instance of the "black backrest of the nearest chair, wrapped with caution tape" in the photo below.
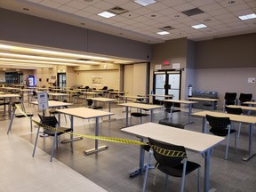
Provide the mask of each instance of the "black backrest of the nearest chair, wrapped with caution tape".
{"label": "black backrest of the nearest chair, wrapped with caution tape", "polygon": [[[183,146],[176,146],[148,138],[150,148],[154,151],[157,164],[175,166],[187,157]],[[168,156],[167,156],[168,154]]]}

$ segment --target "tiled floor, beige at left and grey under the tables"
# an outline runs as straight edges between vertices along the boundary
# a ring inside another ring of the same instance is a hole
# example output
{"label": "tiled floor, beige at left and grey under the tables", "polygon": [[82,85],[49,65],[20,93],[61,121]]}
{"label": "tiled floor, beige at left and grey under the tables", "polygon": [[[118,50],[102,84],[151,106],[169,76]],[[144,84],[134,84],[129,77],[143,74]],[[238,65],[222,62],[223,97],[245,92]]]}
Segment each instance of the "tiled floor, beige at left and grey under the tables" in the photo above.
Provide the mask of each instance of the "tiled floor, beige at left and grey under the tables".
{"label": "tiled floor, beige at left and grey under the tables", "polygon": [[[36,107],[27,106],[27,108],[34,111],[34,118],[38,120]],[[138,140],[136,137],[120,131],[120,128],[125,125],[123,110],[124,108],[114,108],[112,110],[116,114],[116,121],[102,123],[102,120],[100,120],[100,135]],[[68,124],[65,124],[63,116],[61,117],[62,124],[69,126],[69,121]],[[157,123],[162,117],[162,112],[156,111],[154,122]],[[187,117],[187,113],[174,114],[175,121],[185,122]],[[187,124],[185,129],[200,132],[202,119],[193,116],[192,119],[195,123]],[[142,189],[143,175],[129,178],[129,172],[132,168],[138,167],[139,164],[138,146],[99,141],[100,145],[108,145],[108,150],[95,155],[84,156],[84,149],[94,146],[94,140],[84,139],[74,143],[75,151],[73,155],[69,144],[60,144],[56,150],[55,158],[50,163],[49,154],[52,148],[52,138],[40,138],[36,156],[32,157],[36,128],[31,134],[28,119],[14,119],[12,132],[7,135],[9,120],[3,116],[0,120],[0,191],[107,190],[109,192],[139,192]],[[144,123],[148,121],[149,117],[143,118]],[[140,124],[140,120],[132,118],[132,123]],[[75,118],[75,132],[94,134],[94,125],[93,119],[88,121]],[[62,139],[64,138],[68,138],[68,135],[62,137]],[[255,140],[255,135],[253,139]],[[256,157],[249,162],[242,160],[242,157],[247,154],[248,148],[247,124],[243,124],[236,155],[233,148],[234,138],[231,138],[228,160],[224,160],[225,145],[226,143],[221,144],[212,152],[210,172],[212,191],[253,191],[256,182]],[[255,142],[253,147],[256,151]],[[191,151],[188,151],[188,156],[189,160],[202,165],[203,180],[204,159]],[[155,176],[156,182],[154,185],[153,178]],[[185,191],[196,191],[196,172],[188,175],[185,186]],[[169,190],[179,191],[180,179],[170,178]],[[148,191],[165,191],[164,175],[161,172],[155,172],[154,170],[149,172]]]}

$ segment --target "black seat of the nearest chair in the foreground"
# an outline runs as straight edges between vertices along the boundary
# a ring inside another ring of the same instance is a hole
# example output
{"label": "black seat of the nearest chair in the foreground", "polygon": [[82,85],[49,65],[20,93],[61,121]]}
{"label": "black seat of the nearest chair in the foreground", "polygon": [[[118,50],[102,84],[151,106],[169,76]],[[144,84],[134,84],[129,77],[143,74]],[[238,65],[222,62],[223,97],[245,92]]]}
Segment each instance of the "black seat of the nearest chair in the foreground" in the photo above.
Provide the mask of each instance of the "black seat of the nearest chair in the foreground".
{"label": "black seat of the nearest chair in the foreground", "polygon": [[[158,165],[158,166],[157,166]],[[182,170],[183,170],[183,164],[179,164],[176,166],[168,166],[163,164],[157,164],[157,169],[159,169],[161,172],[164,172],[165,174],[171,175],[173,177],[182,177]],[[200,164],[196,164],[194,162],[187,161],[187,167],[186,167],[186,175],[190,172],[195,171],[197,168],[201,167]]]}

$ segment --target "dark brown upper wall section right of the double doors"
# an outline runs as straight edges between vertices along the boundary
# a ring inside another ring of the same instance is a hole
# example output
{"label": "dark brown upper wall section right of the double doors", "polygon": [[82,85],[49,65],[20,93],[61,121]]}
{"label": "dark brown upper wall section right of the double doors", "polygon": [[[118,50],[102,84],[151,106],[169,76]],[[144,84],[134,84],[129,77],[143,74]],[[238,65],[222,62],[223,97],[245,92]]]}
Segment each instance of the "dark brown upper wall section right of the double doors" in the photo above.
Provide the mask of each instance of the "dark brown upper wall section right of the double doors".
{"label": "dark brown upper wall section right of the double doors", "polygon": [[256,33],[196,42],[195,68],[256,67]]}

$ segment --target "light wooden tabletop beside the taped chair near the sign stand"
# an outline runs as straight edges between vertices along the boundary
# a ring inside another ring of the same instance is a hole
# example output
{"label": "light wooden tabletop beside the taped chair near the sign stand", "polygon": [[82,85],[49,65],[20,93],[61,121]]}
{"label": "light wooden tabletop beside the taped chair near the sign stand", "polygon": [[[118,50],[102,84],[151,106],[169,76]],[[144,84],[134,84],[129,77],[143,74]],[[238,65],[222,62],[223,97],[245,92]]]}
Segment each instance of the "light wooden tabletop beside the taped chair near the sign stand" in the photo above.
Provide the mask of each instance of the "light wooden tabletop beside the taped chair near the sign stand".
{"label": "light wooden tabletop beside the taped chair near the sign stand", "polygon": [[109,113],[106,111],[96,110],[92,108],[63,108],[63,109],[56,109],[56,111],[62,114],[67,114],[69,116],[76,116],[84,119],[114,115],[114,113]]}

